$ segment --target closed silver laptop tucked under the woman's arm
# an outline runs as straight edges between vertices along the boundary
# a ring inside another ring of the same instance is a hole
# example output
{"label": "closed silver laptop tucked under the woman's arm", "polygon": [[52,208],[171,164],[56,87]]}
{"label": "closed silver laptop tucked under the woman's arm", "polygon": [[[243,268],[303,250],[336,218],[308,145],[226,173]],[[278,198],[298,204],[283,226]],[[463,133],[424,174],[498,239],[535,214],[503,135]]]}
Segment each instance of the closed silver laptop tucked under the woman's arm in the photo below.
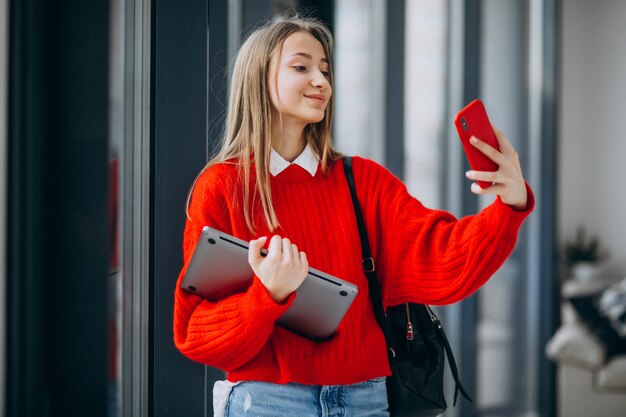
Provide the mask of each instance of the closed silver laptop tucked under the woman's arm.
{"label": "closed silver laptop tucked under the woman's arm", "polygon": [[[181,288],[209,301],[218,301],[245,291],[253,275],[248,264],[248,242],[206,226]],[[296,299],[277,324],[315,341],[327,340],[357,293],[356,285],[309,268],[309,274],[296,290]]]}

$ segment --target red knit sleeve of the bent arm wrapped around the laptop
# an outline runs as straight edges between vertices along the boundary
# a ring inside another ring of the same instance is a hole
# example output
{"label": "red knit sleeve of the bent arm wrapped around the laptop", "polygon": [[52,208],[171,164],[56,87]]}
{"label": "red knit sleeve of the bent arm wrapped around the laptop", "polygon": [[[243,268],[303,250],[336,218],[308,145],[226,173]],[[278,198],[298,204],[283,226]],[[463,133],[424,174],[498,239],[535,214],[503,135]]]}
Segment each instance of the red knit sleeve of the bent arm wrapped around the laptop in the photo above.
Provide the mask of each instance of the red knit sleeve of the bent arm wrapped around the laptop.
{"label": "red knit sleeve of the bent arm wrapped around the laptop", "polygon": [[180,288],[202,228],[232,233],[232,202],[222,191],[223,181],[224,175],[205,171],[192,192],[184,231],[184,266],[175,288],[174,342],[188,358],[230,371],[260,352],[294,295],[278,304],[257,277],[247,291],[215,303]]}

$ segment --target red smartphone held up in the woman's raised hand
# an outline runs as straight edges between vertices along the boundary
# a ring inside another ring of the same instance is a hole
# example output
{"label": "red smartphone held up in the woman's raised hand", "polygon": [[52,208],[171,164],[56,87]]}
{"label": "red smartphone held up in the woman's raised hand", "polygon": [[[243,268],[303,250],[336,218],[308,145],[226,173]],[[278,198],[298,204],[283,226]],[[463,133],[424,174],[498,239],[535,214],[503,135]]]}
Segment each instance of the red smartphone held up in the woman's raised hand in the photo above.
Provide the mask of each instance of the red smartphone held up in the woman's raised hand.
{"label": "red smartphone held up in the woman's raised hand", "polygon": [[[454,125],[472,169],[474,171],[497,171],[498,165],[469,143],[470,137],[476,136],[492,148],[500,150],[498,139],[496,139],[496,134],[491,127],[483,102],[476,99],[465,106],[454,116]],[[476,182],[482,188],[491,186],[490,182]]]}

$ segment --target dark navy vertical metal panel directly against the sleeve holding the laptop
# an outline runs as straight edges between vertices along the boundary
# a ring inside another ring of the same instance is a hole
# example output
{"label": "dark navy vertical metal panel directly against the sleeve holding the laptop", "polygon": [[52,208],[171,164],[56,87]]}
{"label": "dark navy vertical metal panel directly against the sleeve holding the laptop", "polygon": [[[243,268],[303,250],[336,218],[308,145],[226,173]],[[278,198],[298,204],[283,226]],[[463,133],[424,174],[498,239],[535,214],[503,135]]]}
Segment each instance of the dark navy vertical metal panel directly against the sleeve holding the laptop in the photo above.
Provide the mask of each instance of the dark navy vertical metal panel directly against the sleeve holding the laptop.
{"label": "dark navy vertical metal panel directly against the sleeve holding the laptop", "polygon": [[[211,9],[209,10],[209,4]],[[226,1],[153,2],[150,415],[206,415],[205,370],[174,346],[185,201],[206,163],[209,14]],[[213,17],[213,16],[212,16]],[[215,16],[217,17],[217,16]],[[213,91],[220,91],[220,88]]]}

